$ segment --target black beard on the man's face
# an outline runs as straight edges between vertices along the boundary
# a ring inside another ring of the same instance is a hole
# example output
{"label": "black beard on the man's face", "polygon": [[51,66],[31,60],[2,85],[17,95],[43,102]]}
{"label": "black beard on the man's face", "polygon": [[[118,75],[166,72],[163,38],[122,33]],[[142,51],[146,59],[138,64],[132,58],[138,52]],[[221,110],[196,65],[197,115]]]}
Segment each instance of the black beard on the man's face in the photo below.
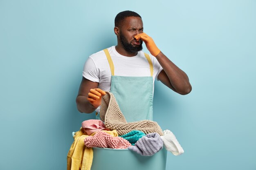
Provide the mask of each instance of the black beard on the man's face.
{"label": "black beard on the man's face", "polygon": [[131,42],[128,42],[128,40],[124,37],[124,35],[121,32],[120,32],[120,41],[121,41],[122,46],[128,53],[135,53],[135,52],[141,51],[143,49],[143,47],[142,47],[143,41],[142,40],[139,40],[139,42],[140,42],[139,45],[137,45],[137,46],[132,45]]}

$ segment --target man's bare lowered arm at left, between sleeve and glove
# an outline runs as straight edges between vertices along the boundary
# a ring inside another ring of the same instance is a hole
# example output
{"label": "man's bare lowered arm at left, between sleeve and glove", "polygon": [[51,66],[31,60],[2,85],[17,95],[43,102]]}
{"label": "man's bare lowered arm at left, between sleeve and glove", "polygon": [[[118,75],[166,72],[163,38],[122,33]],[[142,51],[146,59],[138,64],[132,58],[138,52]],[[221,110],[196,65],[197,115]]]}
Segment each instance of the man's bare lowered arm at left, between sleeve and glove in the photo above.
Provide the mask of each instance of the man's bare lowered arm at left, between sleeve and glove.
{"label": "man's bare lowered arm at left, between sleeve and glove", "polygon": [[90,104],[88,101],[88,93],[90,93],[90,89],[98,88],[98,82],[92,82],[83,77],[78,95],[76,97],[76,107],[81,113],[92,113],[96,108]]}

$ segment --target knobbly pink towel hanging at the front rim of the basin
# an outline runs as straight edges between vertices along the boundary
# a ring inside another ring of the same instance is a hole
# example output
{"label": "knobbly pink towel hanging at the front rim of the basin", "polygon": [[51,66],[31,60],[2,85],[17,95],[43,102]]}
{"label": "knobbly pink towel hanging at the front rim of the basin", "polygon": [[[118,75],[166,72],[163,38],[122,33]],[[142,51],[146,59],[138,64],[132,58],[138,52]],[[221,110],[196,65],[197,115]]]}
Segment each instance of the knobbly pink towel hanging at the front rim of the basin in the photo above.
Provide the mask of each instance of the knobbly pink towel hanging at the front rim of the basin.
{"label": "knobbly pink towel hanging at the front rim of the basin", "polygon": [[84,139],[85,146],[112,148],[112,149],[126,149],[132,146],[126,139],[121,137],[112,137],[106,132],[98,131],[94,136],[89,136]]}

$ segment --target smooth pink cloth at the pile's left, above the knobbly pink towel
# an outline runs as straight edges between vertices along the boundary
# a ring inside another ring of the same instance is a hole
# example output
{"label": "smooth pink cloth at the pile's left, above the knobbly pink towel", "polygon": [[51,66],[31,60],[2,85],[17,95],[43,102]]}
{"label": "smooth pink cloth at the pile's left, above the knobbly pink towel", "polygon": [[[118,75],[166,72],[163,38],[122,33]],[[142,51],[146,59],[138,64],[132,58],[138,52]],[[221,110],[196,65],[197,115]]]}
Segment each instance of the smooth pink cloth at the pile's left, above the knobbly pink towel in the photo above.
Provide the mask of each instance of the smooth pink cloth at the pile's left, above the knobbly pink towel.
{"label": "smooth pink cloth at the pile's left, above the knobbly pink towel", "polygon": [[105,125],[101,120],[97,119],[83,121],[82,128],[87,133],[87,135],[91,135],[93,132],[96,132],[98,130],[109,130],[105,128]]}

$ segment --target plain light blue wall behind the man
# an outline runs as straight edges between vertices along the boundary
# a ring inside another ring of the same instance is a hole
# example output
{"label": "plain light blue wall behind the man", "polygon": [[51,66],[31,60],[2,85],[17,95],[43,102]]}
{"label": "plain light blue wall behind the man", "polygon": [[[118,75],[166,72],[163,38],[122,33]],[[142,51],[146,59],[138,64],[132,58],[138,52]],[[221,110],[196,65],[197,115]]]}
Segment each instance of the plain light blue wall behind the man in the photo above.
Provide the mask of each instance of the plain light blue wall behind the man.
{"label": "plain light blue wall behind the man", "polygon": [[0,0],[0,169],[66,169],[72,131],[94,118],[76,109],[83,64],[117,44],[124,10],[193,86],[155,83],[154,120],[185,150],[166,169],[255,170],[255,0]]}

